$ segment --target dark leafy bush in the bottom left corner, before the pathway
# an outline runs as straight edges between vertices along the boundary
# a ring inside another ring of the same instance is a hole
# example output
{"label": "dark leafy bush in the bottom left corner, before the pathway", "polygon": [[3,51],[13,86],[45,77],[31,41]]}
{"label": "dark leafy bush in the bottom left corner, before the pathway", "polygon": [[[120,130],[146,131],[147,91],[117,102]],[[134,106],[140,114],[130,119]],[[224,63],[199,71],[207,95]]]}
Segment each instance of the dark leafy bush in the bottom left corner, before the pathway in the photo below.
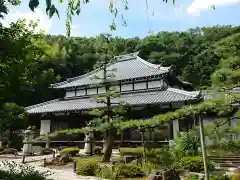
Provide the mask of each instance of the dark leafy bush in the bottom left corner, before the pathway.
{"label": "dark leafy bush in the bottom left corner, before the pathway", "polygon": [[51,175],[49,171],[39,172],[32,166],[16,164],[15,162],[2,162],[4,170],[0,170],[0,179],[4,180],[46,180]]}

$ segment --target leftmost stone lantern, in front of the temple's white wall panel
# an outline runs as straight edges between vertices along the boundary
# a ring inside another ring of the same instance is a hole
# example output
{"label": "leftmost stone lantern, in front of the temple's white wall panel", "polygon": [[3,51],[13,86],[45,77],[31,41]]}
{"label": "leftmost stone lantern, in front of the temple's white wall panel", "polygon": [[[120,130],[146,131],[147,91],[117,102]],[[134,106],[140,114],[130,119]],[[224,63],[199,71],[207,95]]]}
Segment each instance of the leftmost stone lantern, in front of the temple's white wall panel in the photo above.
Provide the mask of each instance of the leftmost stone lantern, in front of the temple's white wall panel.
{"label": "leftmost stone lantern, in front of the temple's white wall panel", "polygon": [[25,143],[29,141],[33,141],[34,138],[34,131],[31,126],[29,126],[25,131],[24,131],[24,145],[23,145],[23,154],[24,155],[32,155],[32,144],[30,143]]}

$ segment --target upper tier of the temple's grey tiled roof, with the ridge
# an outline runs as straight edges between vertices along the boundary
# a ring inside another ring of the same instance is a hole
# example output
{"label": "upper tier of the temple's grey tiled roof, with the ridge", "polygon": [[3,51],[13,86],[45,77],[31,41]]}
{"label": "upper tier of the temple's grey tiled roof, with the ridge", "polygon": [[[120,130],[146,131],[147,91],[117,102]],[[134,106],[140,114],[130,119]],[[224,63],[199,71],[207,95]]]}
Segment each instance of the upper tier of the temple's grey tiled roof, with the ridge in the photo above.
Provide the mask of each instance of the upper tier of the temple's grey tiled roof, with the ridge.
{"label": "upper tier of the temple's grey tiled roof, with the ridge", "polygon": [[[116,56],[115,63],[109,64],[108,70],[115,70],[114,80],[126,80],[138,77],[148,77],[153,75],[160,75],[169,72],[170,67],[162,67],[161,65],[155,65],[149,63],[137,56],[137,53],[127,54],[123,56]],[[57,84],[52,84],[53,88],[67,88],[76,87],[82,85],[88,85],[92,83],[99,83],[99,80],[93,80],[94,77],[103,77],[103,70],[96,69],[92,72],[70,78],[67,81],[63,81]]]}

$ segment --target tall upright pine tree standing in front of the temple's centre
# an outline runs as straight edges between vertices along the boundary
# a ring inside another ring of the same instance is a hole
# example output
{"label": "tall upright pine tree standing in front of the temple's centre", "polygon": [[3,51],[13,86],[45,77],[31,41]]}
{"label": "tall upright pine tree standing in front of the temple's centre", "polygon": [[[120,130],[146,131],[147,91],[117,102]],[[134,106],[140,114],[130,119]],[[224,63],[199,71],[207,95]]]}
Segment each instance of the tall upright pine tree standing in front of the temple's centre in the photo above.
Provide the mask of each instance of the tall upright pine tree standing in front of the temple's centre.
{"label": "tall upright pine tree standing in front of the temple's centre", "polygon": [[101,87],[105,88],[105,93],[98,95],[95,97],[95,101],[97,103],[104,104],[105,108],[93,109],[90,111],[91,115],[96,116],[92,120],[92,129],[99,128],[104,129],[104,156],[102,161],[107,162],[110,161],[110,157],[112,155],[112,149],[114,145],[114,139],[117,135],[116,124],[119,121],[123,120],[123,114],[126,112],[124,108],[124,102],[120,102],[119,97],[120,93],[116,86],[115,74],[114,72],[117,69],[108,69],[108,64],[111,61],[115,61],[112,55],[109,54],[109,35],[101,35],[99,47],[97,47],[97,51],[100,53],[100,61],[97,64],[96,68],[100,68],[102,70],[102,75],[95,76],[92,80],[98,80],[98,82],[102,82]]}

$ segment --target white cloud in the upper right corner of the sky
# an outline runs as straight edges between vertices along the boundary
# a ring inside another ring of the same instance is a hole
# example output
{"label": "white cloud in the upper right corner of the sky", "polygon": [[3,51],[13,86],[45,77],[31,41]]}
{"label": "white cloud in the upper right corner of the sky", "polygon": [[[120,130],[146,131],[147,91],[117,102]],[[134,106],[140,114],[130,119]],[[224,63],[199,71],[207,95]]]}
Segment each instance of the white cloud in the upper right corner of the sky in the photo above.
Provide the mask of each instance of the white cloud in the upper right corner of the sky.
{"label": "white cloud in the upper right corner of the sky", "polygon": [[214,6],[228,6],[239,3],[240,0],[193,0],[192,4],[187,7],[190,15],[200,15],[201,11],[206,11]]}

